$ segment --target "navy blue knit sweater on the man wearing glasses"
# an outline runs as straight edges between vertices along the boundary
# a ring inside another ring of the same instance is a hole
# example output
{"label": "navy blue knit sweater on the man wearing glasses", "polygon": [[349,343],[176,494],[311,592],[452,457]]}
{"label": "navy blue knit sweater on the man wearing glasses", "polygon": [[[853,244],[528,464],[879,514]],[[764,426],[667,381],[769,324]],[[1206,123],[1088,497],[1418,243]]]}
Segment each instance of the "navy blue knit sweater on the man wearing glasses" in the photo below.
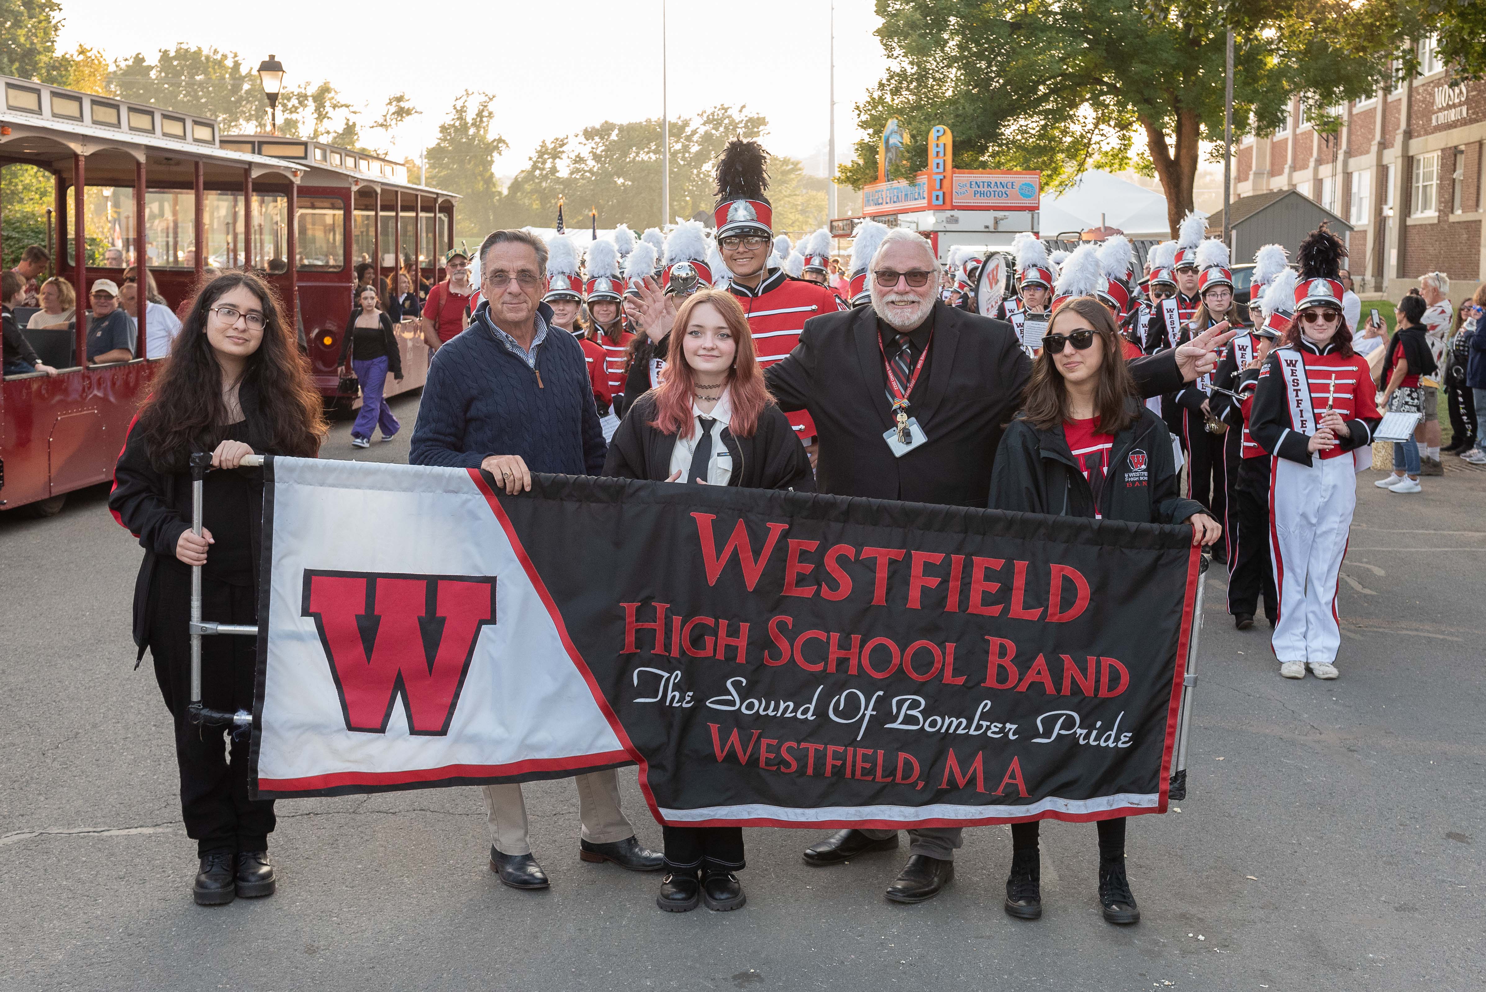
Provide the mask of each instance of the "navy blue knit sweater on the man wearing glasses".
{"label": "navy blue knit sweater on the man wearing glasses", "polygon": [[[496,339],[487,307],[434,353],[409,462],[480,468],[490,454],[520,454],[533,472],[602,474],[603,429],[578,339],[547,334],[532,370]],[[551,322],[551,307],[538,312]]]}

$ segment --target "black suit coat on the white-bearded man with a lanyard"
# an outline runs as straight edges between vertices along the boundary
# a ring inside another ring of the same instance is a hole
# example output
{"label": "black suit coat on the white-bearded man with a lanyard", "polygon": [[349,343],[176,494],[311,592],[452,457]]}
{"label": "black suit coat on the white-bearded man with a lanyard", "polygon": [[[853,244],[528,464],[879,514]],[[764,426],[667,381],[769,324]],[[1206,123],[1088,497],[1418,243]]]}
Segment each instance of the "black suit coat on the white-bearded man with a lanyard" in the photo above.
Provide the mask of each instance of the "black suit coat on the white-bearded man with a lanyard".
{"label": "black suit coat on the white-bearded man with a lanyard", "polygon": [[[877,313],[863,306],[805,321],[795,350],[764,377],[786,413],[816,422],[816,481],[823,493],[985,506],[1005,425],[1031,376],[1012,325],[935,303],[930,356],[911,413],[929,441],[896,457]],[[1175,355],[1131,362],[1146,395],[1181,388]]]}

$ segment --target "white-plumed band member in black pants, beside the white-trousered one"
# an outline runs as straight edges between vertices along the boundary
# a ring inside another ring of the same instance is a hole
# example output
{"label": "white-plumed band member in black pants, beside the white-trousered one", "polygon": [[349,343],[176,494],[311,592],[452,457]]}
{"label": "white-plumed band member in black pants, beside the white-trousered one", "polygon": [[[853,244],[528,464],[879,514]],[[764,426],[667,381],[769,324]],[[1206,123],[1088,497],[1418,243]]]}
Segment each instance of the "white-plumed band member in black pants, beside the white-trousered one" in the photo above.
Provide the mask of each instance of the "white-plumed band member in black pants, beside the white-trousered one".
{"label": "white-plumed band member in black pants, beside the white-trousered one", "polygon": [[1259,297],[1262,319],[1253,331],[1229,343],[1227,355],[1213,373],[1213,411],[1229,425],[1227,434],[1238,438],[1238,465],[1229,475],[1224,521],[1229,535],[1227,612],[1238,630],[1254,625],[1260,597],[1271,627],[1278,615],[1269,561],[1269,453],[1254,441],[1250,420],[1259,373],[1275,339],[1290,330],[1294,316],[1290,307],[1294,306],[1296,273],[1281,269],[1265,282],[1265,294]]}

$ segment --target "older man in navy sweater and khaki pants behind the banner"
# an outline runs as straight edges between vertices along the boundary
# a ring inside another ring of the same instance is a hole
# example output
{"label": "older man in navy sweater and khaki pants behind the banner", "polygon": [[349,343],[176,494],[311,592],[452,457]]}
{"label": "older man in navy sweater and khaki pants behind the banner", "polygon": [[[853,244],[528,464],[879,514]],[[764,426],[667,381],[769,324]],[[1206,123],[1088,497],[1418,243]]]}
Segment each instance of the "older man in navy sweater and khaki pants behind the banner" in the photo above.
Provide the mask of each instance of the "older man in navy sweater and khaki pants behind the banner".
{"label": "older man in navy sweater and khaki pants behind the banner", "polygon": [[[480,296],[470,328],[434,355],[413,429],[415,465],[481,468],[507,493],[532,487],[532,472],[597,475],[603,431],[578,340],[550,333],[547,245],[523,230],[498,230],[480,245]],[[614,771],[578,775],[584,861],[655,872],[661,855],[640,846],[620,811]],[[511,888],[547,888],[532,857],[520,786],[486,786],[490,870]]]}

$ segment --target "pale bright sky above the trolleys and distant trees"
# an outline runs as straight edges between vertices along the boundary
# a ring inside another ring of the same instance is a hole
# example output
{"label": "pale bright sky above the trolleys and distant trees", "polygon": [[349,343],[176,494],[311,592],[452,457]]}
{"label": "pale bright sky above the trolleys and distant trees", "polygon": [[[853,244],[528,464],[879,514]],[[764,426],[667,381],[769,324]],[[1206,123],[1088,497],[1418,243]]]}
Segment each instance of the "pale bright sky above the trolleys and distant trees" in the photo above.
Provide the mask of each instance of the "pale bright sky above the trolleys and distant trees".
{"label": "pale bright sky above the trolleys and distant trees", "polygon": [[[465,89],[496,97],[496,132],[510,150],[498,175],[522,169],[536,144],[602,120],[661,116],[663,0],[495,0],[493,3],[328,3],[266,9],[150,0],[134,18],[116,0],[62,0],[61,45],[101,48],[113,59],[153,61],[177,42],[238,52],[257,65],[269,53],[285,86],[330,80],[374,119],[388,95],[407,92],[422,114],[403,125],[394,151],[413,156]],[[851,157],[853,105],[887,61],[872,31],[872,0],[835,0],[837,160]],[[746,104],[770,122],[765,147],[804,159],[829,129],[831,0],[669,0],[669,114],[719,102]],[[282,12],[279,15],[278,12]],[[431,12],[432,18],[425,12]],[[380,144],[380,135],[372,135]]]}

